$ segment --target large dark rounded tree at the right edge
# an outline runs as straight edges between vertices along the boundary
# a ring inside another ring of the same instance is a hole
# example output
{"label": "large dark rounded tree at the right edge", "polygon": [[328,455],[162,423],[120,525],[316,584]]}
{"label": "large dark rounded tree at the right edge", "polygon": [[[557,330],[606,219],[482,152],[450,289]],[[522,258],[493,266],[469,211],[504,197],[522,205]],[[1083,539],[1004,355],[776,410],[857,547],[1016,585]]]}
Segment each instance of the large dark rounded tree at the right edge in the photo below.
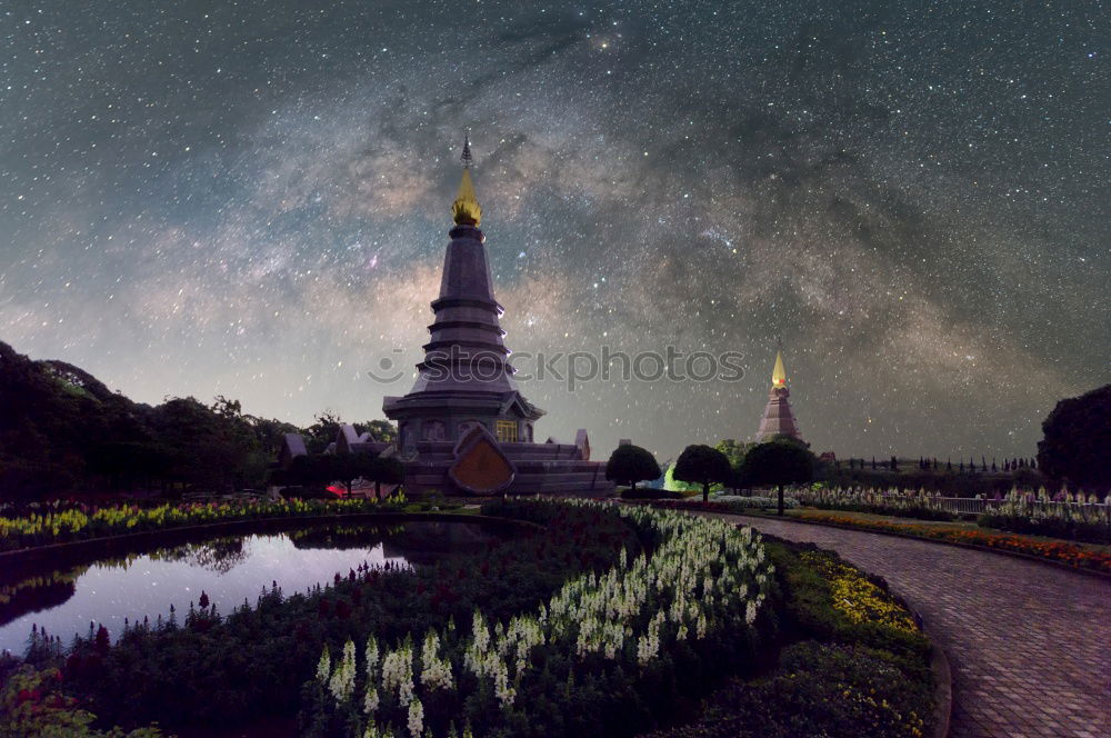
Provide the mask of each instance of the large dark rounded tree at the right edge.
{"label": "large dark rounded tree at the right edge", "polygon": [[1061,400],[1042,422],[1038,468],[1051,479],[1111,488],[1111,385]]}

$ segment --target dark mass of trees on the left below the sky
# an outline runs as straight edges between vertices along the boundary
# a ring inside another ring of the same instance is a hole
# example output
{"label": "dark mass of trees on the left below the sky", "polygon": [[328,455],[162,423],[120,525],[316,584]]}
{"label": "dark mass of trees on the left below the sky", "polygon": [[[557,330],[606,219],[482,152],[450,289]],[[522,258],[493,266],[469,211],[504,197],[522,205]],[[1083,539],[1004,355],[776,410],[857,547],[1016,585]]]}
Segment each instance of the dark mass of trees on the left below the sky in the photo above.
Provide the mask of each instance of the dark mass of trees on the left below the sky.
{"label": "dark mass of trees on the left below the sky", "polygon": [[223,491],[256,486],[289,423],[242,413],[223,397],[150,407],[61,361],[32,361],[0,342],[0,495],[70,490]]}

